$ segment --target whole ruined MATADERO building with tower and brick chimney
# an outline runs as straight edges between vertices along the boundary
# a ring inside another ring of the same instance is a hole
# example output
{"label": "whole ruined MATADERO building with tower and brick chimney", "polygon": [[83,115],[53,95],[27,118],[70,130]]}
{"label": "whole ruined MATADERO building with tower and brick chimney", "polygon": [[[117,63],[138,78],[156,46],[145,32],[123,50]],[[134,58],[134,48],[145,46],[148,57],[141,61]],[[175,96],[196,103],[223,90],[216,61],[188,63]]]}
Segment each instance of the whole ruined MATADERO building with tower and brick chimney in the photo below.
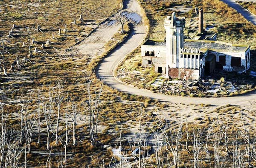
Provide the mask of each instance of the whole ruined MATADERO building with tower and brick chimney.
{"label": "whole ruined MATADERO building with tower and brick chimney", "polygon": [[215,70],[246,72],[250,46],[215,41],[216,34],[204,31],[203,11],[195,40],[184,40],[185,18],[167,16],[166,40],[146,40],[141,47],[142,65],[154,64],[155,71],[169,78],[198,79]]}

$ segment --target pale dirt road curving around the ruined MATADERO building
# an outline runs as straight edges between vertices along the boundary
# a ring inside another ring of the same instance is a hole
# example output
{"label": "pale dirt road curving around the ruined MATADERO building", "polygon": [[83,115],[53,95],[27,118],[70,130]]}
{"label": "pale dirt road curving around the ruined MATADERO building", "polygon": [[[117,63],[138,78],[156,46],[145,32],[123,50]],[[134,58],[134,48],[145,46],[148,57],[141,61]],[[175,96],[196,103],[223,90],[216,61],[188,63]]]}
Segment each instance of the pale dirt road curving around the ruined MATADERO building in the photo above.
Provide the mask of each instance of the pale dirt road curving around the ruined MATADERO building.
{"label": "pale dirt road curving around the ruined MATADERO building", "polygon": [[[141,9],[136,0],[132,1],[134,9],[136,12],[141,14]],[[134,25],[134,29],[131,31],[130,36],[127,41],[117,47],[108,57],[106,57],[102,63],[99,64],[96,74],[101,78],[105,84],[116,88],[119,91],[123,91],[129,94],[141,95],[144,97],[151,97],[161,101],[171,102],[171,103],[186,103],[186,104],[212,104],[212,105],[248,105],[250,101],[256,100],[256,91],[249,94],[244,94],[242,96],[236,97],[222,97],[222,98],[196,98],[196,97],[177,97],[168,96],[163,94],[152,93],[151,91],[141,90],[134,88],[129,85],[125,85],[116,80],[113,76],[113,72],[116,67],[121,63],[127,54],[137,48],[146,37],[146,26],[144,23],[141,25]]]}

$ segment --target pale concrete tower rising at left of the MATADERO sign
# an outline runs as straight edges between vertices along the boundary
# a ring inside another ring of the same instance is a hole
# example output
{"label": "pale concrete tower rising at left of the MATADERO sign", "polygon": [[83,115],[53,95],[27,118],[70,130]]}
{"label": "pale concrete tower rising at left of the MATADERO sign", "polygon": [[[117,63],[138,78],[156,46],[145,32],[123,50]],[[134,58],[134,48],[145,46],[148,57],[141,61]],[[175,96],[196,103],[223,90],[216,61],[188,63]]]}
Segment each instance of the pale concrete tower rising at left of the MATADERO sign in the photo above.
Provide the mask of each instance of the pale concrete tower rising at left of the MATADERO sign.
{"label": "pale concrete tower rising at left of the MATADERO sign", "polygon": [[185,18],[167,16],[164,20],[166,29],[166,77],[169,78],[169,68],[179,68],[180,48],[183,48]]}

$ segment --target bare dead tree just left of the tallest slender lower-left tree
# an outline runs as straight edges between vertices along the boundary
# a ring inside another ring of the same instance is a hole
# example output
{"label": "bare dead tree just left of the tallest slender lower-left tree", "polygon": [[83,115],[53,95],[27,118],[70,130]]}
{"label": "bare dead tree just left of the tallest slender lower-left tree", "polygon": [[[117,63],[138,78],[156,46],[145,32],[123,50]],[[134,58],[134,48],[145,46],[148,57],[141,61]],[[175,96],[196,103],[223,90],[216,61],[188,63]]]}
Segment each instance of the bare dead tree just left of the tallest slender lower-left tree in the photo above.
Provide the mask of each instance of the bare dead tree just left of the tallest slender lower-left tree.
{"label": "bare dead tree just left of the tallest slender lower-left tree", "polygon": [[49,150],[50,142],[50,131],[52,127],[52,113],[53,113],[53,94],[52,90],[49,89],[48,97],[44,96],[41,99],[43,103],[43,112],[45,117],[46,131],[47,131],[47,150]]}

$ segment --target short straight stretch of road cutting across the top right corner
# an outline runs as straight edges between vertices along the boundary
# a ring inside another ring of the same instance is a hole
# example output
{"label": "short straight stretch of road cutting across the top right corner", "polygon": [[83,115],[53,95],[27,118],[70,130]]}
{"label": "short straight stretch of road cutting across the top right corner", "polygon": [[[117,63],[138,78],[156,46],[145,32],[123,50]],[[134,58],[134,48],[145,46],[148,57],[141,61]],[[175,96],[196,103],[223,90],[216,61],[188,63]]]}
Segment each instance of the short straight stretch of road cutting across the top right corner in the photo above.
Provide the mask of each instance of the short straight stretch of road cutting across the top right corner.
{"label": "short straight stretch of road cutting across the top right corner", "polygon": [[228,6],[238,11],[238,13],[243,15],[248,21],[256,25],[256,15],[251,13],[249,10],[244,9],[242,6],[236,3],[236,0],[222,0],[222,1],[224,3],[227,3]]}

